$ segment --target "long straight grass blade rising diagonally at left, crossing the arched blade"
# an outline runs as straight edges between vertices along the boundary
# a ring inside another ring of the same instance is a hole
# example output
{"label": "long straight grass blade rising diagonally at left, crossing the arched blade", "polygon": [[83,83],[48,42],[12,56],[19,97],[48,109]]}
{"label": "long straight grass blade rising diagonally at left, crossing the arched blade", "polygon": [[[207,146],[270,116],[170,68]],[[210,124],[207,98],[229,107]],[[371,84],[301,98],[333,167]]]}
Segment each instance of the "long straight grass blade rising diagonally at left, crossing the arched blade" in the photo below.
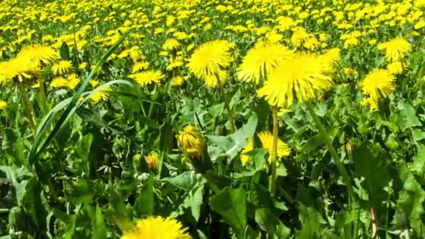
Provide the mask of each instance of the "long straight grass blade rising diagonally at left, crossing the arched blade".
{"label": "long straight grass blade rising diagonally at left, crossing the arched blade", "polygon": [[[52,123],[54,117],[56,114],[50,114],[50,117],[48,117],[47,120],[44,121],[44,124],[40,127],[40,133],[37,134],[36,139],[34,140],[33,145],[31,146],[31,152],[29,153],[29,165],[33,165],[34,162],[38,159],[38,156],[45,150],[45,147],[52,141],[52,139],[56,136],[56,133],[59,131],[59,129],[64,124],[65,120],[69,117],[69,115],[72,115],[75,110],[73,110],[75,104],[78,101],[78,98],[80,98],[80,95],[85,91],[87,88],[87,85],[89,85],[89,80],[93,78],[93,76],[101,69],[101,66],[103,63],[105,63],[106,59],[114,52],[124,41],[125,38],[131,33],[131,31],[128,31],[126,34],[124,34],[113,46],[111,46],[105,54],[102,55],[99,62],[96,64],[96,66],[92,69],[92,71],[87,75],[85,80],[82,81],[82,84],[80,88],[78,88],[78,91],[75,92],[73,95],[71,102],[64,110],[64,113],[62,113],[61,117],[59,117],[59,120],[56,122],[55,126],[53,127],[52,131],[49,133],[48,138],[44,141],[43,145],[41,145],[41,142],[44,138],[44,135]],[[72,112],[71,112],[72,111]],[[39,148],[39,146],[41,147]]]}

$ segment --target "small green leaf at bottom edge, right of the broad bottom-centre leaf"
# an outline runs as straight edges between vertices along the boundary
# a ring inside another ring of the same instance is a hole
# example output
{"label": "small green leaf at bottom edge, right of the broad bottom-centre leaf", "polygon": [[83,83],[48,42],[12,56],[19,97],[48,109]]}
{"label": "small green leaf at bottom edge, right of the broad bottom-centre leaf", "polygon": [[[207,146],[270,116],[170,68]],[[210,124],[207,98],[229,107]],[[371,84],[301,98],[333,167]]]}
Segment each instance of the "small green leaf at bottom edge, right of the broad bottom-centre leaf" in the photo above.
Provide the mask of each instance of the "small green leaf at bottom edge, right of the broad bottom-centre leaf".
{"label": "small green leaf at bottom edge, right of the broad bottom-centre leaf", "polygon": [[284,226],[280,219],[276,217],[273,212],[268,208],[259,208],[255,210],[255,222],[259,227],[268,233],[273,235],[273,238],[289,238],[291,230]]}

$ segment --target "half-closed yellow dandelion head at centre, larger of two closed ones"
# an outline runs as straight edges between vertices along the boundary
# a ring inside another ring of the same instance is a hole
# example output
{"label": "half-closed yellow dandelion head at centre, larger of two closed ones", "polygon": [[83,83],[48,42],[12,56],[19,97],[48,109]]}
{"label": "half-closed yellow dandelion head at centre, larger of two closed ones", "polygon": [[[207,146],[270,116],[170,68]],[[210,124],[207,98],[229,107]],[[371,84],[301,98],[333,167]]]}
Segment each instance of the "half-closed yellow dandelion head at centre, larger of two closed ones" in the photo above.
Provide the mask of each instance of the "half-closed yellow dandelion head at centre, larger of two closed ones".
{"label": "half-closed yellow dandelion head at centre, larger of two closed ones", "polygon": [[179,132],[178,146],[182,150],[185,157],[188,159],[192,157],[201,157],[203,159],[203,152],[206,150],[206,143],[203,140],[201,132],[195,126],[187,125]]}

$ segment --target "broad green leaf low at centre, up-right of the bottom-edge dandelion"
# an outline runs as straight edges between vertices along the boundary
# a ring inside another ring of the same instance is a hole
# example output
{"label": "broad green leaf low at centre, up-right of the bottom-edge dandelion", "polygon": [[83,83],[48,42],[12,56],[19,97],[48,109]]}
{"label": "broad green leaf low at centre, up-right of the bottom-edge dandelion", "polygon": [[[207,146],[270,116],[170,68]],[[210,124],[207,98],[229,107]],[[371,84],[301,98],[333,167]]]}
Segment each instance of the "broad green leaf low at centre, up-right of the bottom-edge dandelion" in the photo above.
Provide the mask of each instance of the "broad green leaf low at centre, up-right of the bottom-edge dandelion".
{"label": "broad green leaf low at centre, up-right of the bottom-edge dandelion", "polygon": [[247,225],[246,191],[226,187],[210,198],[211,209],[221,215],[226,224],[242,234]]}

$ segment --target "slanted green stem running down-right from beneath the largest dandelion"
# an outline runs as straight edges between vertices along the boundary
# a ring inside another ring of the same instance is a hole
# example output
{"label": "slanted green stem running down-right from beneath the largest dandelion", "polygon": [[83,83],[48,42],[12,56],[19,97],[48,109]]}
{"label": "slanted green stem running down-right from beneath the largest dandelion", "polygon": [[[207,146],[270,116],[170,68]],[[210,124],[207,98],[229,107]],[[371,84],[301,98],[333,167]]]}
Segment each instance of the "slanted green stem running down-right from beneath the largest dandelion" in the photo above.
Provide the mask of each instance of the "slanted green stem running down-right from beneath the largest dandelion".
{"label": "slanted green stem running down-right from beneath the largest dandelion", "polygon": [[326,133],[326,130],[324,129],[324,126],[322,122],[320,122],[319,117],[315,113],[315,108],[312,106],[310,101],[305,101],[305,106],[307,106],[308,111],[310,112],[310,115],[313,118],[313,121],[315,122],[317,129],[319,129],[319,133],[322,135],[322,138],[324,140],[324,143],[326,147],[328,147],[329,153],[333,157],[333,161],[336,164],[336,167],[338,168],[338,171],[340,175],[343,177],[343,181],[347,185],[347,192],[348,192],[348,203],[351,205],[352,197],[353,197],[353,187],[350,180],[350,176],[348,175],[347,171],[344,168],[343,163],[341,162],[340,157],[336,153],[335,147],[333,147],[331,139],[329,138],[328,133]]}

